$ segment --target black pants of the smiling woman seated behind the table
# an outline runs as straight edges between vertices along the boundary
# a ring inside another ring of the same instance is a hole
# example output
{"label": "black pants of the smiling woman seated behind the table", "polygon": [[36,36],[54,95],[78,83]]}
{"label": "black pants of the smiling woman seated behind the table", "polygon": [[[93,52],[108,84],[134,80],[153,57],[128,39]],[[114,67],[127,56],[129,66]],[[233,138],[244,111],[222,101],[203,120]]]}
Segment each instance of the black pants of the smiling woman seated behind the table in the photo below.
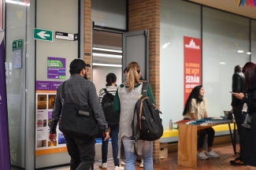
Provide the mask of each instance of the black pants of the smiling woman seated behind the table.
{"label": "black pants of the smiling woman seated behind the table", "polygon": [[198,131],[198,149],[202,149],[206,135],[208,135],[208,147],[213,146],[215,131],[212,127]]}

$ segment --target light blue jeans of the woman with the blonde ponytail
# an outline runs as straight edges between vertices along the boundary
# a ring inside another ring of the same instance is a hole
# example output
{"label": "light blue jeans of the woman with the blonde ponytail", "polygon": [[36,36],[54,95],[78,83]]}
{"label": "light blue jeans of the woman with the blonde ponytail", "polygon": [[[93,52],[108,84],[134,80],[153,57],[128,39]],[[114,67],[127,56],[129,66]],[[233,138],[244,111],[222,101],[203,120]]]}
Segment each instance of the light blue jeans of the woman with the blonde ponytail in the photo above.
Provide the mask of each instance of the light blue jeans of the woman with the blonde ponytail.
{"label": "light blue jeans of the woman with the blonde ponytail", "polygon": [[[132,137],[124,136],[123,139],[124,144],[124,153],[126,157],[125,162],[125,170],[135,170],[135,160],[136,160],[136,153],[132,153]],[[153,142],[152,141],[145,141],[143,145],[143,161],[144,161],[144,168],[146,170],[153,170]]]}

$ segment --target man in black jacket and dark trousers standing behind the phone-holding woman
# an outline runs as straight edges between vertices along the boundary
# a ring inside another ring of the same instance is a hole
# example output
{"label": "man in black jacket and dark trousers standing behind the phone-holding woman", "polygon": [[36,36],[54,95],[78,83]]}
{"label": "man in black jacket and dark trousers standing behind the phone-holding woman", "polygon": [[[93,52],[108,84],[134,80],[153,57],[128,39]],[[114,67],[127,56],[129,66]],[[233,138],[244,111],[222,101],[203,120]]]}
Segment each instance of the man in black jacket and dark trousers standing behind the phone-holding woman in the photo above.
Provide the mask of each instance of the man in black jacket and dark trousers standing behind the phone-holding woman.
{"label": "man in black jacket and dark trousers standing behind the phone-holding woman", "polygon": [[[245,77],[242,72],[242,66],[236,65],[235,73],[232,76],[232,92],[234,93],[243,93],[246,94],[247,85],[245,83]],[[236,120],[236,125],[239,133],[239,146],[240,146],[240,154],[239,157],[235,159],[236,162],[243,162],[243,145],[244,145],[244,131],[245,128],[242,126],[243,124],[243,116],[242,116],[242,109],[243,109],[244,102],[239,100],[232,94],[232,109]],[[235,161],[230,161],[233,164]]]}

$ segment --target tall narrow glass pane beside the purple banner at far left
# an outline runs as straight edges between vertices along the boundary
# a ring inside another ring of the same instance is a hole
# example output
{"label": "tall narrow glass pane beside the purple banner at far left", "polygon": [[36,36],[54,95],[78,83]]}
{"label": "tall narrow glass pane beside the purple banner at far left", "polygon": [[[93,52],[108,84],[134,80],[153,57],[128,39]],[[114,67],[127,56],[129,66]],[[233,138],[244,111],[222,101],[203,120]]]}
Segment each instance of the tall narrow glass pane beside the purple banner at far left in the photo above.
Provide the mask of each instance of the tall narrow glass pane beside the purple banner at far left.
{"label": "tall narrow glass pane beside the purple banner at far left", "polygon": [[[24,168],[26,3],[6,1],[6,91],[11,164]],[[23,50],[13,51],[13,45]],[[16,59],[15,59],[16,57]],[[20,58],[21,57],[21,58]],[[20,65],[21,68],[17,68]]]}

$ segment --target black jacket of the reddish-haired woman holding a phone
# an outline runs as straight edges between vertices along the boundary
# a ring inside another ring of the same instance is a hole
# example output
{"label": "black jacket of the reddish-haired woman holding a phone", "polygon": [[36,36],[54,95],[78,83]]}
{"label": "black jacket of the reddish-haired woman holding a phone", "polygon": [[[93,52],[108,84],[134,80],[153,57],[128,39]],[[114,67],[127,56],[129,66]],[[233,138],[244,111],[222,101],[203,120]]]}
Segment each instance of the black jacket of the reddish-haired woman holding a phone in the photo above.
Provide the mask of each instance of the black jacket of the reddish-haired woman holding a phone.
{"label": "black jacket of the reddish-haired woman holding a phone", "polygon": [[247,91],[247,97],[243,97],[243,102],[248,106],[248,113],[256,113],[256,81]]}

